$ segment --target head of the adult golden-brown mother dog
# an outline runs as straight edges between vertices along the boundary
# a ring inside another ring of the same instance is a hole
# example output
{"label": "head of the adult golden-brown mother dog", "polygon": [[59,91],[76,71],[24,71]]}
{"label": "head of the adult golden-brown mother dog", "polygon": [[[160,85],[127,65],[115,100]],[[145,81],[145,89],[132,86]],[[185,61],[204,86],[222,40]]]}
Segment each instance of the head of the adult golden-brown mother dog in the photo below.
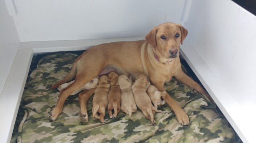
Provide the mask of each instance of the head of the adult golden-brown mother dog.
{"label": "head of the adult golden-brown mother dog", "polygon": [[154,48],[155,58],[162,62],[170,62],[179,58],[180,43],[188,35],[188,30],[180,24],[164,23],[154,27],[145,37]]}

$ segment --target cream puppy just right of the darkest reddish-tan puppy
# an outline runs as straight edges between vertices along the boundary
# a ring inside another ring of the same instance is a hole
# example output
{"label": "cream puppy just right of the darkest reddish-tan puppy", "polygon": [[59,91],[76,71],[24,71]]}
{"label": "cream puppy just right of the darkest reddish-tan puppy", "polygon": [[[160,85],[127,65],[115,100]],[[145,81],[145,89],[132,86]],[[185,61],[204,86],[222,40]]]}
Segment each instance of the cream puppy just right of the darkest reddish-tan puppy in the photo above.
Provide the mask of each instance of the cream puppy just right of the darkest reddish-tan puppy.
{"label": "cream puppy just right of the darkest reddish-tan puppy", "polygon": [[121,89],[121,110],[132,116],[132,112],[137,110],[137,106],[132,93],[132,75],[129,78],[126,75],[118,77],[118,85]]}

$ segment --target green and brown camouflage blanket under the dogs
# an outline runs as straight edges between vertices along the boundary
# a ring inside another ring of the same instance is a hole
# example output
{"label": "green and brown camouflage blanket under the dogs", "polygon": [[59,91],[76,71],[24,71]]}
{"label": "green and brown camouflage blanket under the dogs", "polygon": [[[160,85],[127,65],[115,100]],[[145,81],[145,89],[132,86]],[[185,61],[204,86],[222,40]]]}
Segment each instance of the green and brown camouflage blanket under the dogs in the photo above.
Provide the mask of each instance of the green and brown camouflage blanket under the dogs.
{"label": "green and brown camouflage blanket under the dogs", "polygon": [[165,104],[159,106],[164,114],[156,113],[152,125],[138,109],[131,118],[119,112],[117,118],[106,123],[92,119],[92,98],[87,104],[88,122],[80,121],[78,94],[69,96],[62,114],[51,122],[50,110],[57,102],[59,91],[51,86],[64,78],[78,55],[56,53],[40,59],[28,77],[28,88],[22,96],[24,117],[20,122],[17,141],[22,143],[234,143],[236,135],[216,106],[203,95],[194,92],[177,80],[165,84],[167,92],[178,102],[190,118],[190,126],[178,123],[174,112]]}

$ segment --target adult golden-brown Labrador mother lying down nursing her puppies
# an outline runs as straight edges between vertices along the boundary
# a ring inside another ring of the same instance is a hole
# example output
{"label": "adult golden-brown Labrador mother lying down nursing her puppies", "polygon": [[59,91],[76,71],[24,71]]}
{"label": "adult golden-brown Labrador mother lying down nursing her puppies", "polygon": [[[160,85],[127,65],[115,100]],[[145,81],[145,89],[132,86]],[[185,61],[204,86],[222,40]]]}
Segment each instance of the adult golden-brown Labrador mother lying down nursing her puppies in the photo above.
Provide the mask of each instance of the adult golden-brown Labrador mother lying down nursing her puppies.
{"label": "adult golden-brown Labrador mother lying down nursing her puppies", "polygon": [[[181,69],[179,50],[188,30],[180,24],[164,23],[154,27],[145,37],[146,40],[105,43],[91,47],[76,59],[70,73],[52,86],[75,81],[60,92],[56,106],[50,112],[54,121],[62,112],[66,98],[75,90],[90,82],[106,67],[116,69],[119,75],[144,74],[159,91],[164,91],[164,83],[174,76],[180,82],[208,95],[202,87],[184,74]],[[188,115],[166,92],[163,99],[174,111],[178,122],[189,125]]]}

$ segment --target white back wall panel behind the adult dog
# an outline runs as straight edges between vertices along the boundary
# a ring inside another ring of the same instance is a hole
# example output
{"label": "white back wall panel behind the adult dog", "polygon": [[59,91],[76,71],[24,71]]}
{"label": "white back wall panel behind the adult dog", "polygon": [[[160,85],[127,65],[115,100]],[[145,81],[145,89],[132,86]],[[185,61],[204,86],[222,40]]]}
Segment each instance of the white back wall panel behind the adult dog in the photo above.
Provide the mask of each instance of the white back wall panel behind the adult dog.
{"label": "white back wall panel behind the adult dog", "polygon": [[180,23],[185,0],[14,0],[24,41],[139,37]]}

